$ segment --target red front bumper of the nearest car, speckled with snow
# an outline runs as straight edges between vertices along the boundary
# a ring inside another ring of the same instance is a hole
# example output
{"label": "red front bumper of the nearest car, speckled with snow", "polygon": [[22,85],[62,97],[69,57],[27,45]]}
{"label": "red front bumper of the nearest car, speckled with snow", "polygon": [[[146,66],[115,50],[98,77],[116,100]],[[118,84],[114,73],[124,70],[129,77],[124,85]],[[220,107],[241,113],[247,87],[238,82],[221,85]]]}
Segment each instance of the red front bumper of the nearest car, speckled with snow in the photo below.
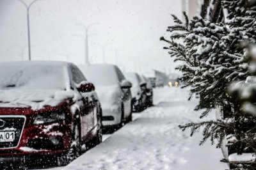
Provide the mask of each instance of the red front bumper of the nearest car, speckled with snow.
{"label": "red front bumper of the nearest car, speckled with snow", "polygon": [[65,125],[65,121],[47,125],[27,124],[18,146],[0,148],[0,157],[8,160],[11,157],[65,153],[70,147],[71,129],[71,125]]}

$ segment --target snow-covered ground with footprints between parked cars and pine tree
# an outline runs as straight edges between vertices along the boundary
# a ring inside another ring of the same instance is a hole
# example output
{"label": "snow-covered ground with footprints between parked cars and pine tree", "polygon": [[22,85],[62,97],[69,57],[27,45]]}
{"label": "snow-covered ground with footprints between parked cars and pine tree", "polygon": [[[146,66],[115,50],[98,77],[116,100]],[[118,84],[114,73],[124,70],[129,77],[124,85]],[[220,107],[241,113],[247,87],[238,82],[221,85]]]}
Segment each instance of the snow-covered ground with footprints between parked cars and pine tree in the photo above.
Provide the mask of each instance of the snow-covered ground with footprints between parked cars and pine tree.
{"label": "snow-covered ground with footprints between parked cars and pine tree", "polygon": [[[134,113],[134,121],[81,157],[57,169],[228,169],[223,154],[209,143],[198,146],[202,132],[190,137],[178,125],[198,121],[193,111],[198,99],[188,98],[188,89],[154,89],[154,106]],[[210,115],[214,118],[214,113]]]}

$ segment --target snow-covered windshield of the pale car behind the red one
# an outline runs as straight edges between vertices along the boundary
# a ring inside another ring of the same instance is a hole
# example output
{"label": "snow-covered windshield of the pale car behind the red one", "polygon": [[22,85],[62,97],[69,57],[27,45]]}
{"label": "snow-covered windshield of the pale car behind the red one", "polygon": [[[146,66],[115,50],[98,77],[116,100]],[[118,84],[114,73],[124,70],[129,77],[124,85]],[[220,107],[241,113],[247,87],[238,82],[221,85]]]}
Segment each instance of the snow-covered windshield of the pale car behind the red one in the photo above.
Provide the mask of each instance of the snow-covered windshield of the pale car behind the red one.
{"label": "snow-covered windshield of the pale car behind the red one", "polygon": [[88,81],[95,86],[111,86],[119,84],[115,65],[91,64],[78,65]]}

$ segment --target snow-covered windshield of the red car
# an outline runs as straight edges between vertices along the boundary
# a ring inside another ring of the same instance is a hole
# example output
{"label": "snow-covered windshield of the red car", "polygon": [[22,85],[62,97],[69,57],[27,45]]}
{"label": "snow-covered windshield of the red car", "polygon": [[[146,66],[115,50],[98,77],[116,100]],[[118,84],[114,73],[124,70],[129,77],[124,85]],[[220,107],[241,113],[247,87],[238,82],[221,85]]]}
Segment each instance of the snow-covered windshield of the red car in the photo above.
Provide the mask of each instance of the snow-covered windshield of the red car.
{"label": "snow-covered windshield of the red car", "polygon": [[61,66],[1,65],[0,89],[66,89]]}

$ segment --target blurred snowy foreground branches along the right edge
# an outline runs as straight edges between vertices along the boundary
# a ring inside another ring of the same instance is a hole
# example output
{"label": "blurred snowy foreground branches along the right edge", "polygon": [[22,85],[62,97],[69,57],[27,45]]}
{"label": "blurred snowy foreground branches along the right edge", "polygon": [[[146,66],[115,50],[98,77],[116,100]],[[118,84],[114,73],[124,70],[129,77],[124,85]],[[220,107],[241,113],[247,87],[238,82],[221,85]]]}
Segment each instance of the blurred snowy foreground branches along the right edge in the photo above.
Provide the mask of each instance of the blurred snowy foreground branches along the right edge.
{"label": "blurred snowy foreground branches along the right edge", "polygon": [[[250,75],[246,77],[246,81],[233,82],[228,88],[231,95],[236,97],[240,102],[240,113],[246,117],[246,123],[244,123],[244,135],[243,136],[243,148],[251,150],[256,153],[256,46],[246,45],[244,49],[244,63],[248,64]],[[222,160],[223,162],[229,162],[228,160]],[[246,162],[240,162],[240,164],[234,164],[237,169],[250,169],[250,164]],[[255,166],[254,166],[255,167]]]}

